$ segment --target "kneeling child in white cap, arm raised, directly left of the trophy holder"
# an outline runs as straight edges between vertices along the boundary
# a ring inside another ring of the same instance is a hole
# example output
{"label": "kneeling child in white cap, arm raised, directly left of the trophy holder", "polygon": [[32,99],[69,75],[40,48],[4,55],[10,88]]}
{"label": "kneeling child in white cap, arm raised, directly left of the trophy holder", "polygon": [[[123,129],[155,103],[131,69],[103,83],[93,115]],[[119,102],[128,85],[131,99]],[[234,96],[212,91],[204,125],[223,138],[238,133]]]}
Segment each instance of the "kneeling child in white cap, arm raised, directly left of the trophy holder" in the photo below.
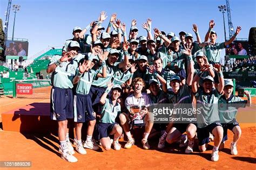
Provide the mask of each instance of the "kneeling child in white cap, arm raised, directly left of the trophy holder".
{"label": "kneeling child in white cap, arm raised, directly left of the trophy holder", "polygon": [[[111,91],[112,89],[112,91]],[[106,98],[111,91],[111,98]],[[95,134],[96,140],[99,140],[104,150],[108,151],[111,148],[110,135],[114,135],[113,148],[120,150],[121,146],[118,139],[122,134],[122,128],[115,122],[116,117],[121,112],[120,104],[117,102],[121,95],[122,88],[120,85],[107,83],[107,89],[100,98],[99,103],[102,104],[102,112],[100,113],[99,123],[96,124]]]}

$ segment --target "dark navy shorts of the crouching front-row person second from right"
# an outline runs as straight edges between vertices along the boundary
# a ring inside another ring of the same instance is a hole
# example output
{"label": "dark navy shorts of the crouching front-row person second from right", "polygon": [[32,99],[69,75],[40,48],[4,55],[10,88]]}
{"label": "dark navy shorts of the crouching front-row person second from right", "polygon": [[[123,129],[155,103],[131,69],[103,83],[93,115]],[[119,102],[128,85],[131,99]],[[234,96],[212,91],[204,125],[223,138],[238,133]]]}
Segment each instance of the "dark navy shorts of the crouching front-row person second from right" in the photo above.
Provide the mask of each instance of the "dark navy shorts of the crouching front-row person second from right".
{"label": "dark navy shorts of the crouching front-row person second from right", "polygon": [[205,126],[204,128],[197,129],[197,138],[198,138],[198,145],[202,146],[204,144],[208,144],[210,142],[209,135],[212,130],[217,126],[221,126],[219,122],[211,123],[210,125]]}

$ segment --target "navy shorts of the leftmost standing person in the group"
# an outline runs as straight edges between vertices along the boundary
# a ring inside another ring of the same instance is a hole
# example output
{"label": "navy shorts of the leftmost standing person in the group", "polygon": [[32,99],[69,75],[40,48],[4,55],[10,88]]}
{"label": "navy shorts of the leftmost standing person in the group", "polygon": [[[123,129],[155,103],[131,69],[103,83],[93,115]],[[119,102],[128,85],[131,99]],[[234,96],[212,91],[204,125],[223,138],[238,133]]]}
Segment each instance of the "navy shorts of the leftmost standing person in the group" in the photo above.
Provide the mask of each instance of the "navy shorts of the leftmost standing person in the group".
{"label": "navy shorts of the leftmost standing person in the group", "polygon": [[51,89],[51,119],[65,121],[73,118],[72,89],[52,87]]}

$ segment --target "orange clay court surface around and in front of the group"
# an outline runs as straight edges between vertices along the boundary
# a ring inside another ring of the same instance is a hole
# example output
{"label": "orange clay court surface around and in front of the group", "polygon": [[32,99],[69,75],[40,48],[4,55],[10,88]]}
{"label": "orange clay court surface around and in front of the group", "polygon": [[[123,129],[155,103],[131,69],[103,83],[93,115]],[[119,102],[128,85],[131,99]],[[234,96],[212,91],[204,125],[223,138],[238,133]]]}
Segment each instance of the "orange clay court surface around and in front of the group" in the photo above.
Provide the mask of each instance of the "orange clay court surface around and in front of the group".
{"label": "orange clay court surface around and in front of the group", "polygon": [[[0,98],[0,114],[30,103],[49,103],[44,99]],[[253,104],[256,97],[253,97]],[[0,117],[0,122],[2,119]],[[255,169],[256,167],[256,127],[255,123],[242,123],[242,136],[238,141],[238,155],[230,154],[232,133],[228,131],[228,140],[219,161],[211,161],[213,142],[204,153],[194,148],[188,155],[177,144],[163,150],[157,149],[158,137],[150,139],[151,150],[143,150],[139,141],[131,149],[124,149],[125,142],[120,140],[120,151],[92,151],[86,155],[77,152],[78,162],[69,163],[60,158],[58,137],[53,134],[22,134],[0,131],[0,161],[31,161],[30,169]],[[1,168],[0,169],[8,169]],[[17,169],[17,168],[13,168]],[[25,168],[24,168],[25,169]]]}

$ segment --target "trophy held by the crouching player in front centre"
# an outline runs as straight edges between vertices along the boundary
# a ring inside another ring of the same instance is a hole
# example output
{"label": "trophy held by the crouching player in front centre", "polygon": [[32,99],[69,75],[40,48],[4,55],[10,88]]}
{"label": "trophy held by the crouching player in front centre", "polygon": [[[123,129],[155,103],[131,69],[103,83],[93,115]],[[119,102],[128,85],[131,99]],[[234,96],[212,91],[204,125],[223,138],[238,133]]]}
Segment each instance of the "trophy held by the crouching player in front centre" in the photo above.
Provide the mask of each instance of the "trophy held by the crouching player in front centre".
{"label": "trophy held by the crouching player in front centre", "polygon": [[140,116],[139,112],[146,108],[146,105],[130,105],[130,117],[133,126],[144,126],[144,116]]}

